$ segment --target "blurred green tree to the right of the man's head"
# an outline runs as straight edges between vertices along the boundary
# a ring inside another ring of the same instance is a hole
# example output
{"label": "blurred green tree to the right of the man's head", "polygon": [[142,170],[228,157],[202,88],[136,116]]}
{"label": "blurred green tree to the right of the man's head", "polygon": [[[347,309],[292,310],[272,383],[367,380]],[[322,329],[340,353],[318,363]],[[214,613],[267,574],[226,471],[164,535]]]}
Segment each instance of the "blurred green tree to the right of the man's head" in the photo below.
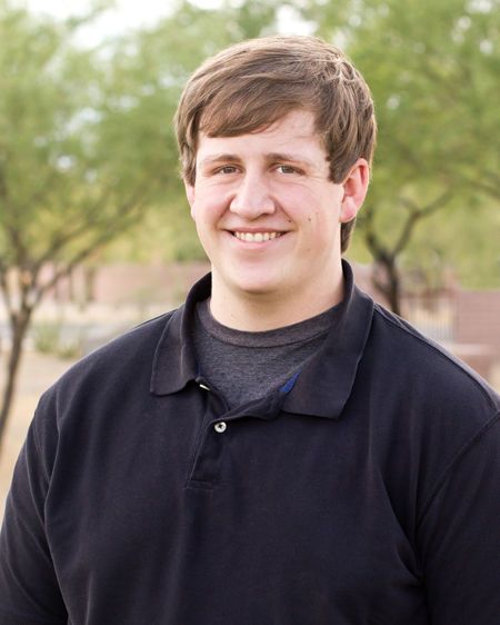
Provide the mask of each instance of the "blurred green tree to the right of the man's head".
{"label": "blurred green tree to the right of the man's head", "polygon": [[[499,1],[301,4],[319,34],[349,51],[373,91],[379,146],[358,238],[373,258],[376,286],[399,311],[402,270],[436,277],[444,265],[437,258],[470,260],[477,250],[459,232],[478,226],[489,250],[482,282],[486,272],[492,284],[500,234]],[[359,252],[356,237],[353,248]]]}

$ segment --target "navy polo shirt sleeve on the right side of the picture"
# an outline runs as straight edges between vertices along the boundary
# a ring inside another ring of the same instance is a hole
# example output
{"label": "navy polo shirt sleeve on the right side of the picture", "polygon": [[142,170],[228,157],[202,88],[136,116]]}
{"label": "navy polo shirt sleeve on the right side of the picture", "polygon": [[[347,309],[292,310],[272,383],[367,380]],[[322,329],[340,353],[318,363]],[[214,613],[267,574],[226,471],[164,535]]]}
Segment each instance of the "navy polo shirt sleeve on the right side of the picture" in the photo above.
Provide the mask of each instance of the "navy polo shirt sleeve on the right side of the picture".
{"label": "navy polo shirt sleeve on the right side of the picture", "polygon": [[432,625],[500,618],[500,416],[460,450],[419,526]]}

